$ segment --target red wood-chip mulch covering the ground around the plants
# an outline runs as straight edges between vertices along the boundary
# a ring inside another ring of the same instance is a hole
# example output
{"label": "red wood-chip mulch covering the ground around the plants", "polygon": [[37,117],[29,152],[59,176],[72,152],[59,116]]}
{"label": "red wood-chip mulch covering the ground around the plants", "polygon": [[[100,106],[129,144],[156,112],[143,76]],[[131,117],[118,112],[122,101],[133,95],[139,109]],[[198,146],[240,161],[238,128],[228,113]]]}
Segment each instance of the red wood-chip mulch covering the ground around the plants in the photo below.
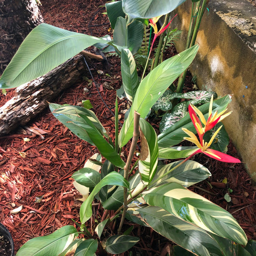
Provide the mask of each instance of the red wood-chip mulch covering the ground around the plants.
{"label": "red wood-chip mulch covering the ground around the plants", "polygon": [[[41,2],[43,5],[40,10],[46,23],[97,37],[108,33],[108,18],[102,14],[105,9],[100,7],[105,1]],[[101,96],[111,108],[114,106],[116,93],[105,85],[119,88],[121,71],[118,57],[108,57],[108,60],[108,68],[104,69],[99,63],[93,64],[92,68]],[[103,73],[98,74],[96,70],[103,70]],[[91,80],[73,85],[55,102],[78,105],[82,100],[89,99],[103,126],[113,134],[112,115],[100,99],[96,86],[90,82]],[[186,84],[191,85],[191,76],[187,77]],[[84,93],[85,87],[89,92]],[[9,91],[7,96],[1,97],[0,105],[12,98],[12,95],[13,91]],[[125,109],[124,102],[119,106],[120,109]],[[26,129],[0,138],[0,221],[12,233],[15,251],[28,239],[47,235],[64,225],[74,225],[73,220],[79,222],[79,203],[75,200],[78,195],[71,176],[74,171],[83,167],[87,158],[97,152],[95,147],[73,135],[49,110],[40,114],[28,126],[41,129],[44,138],[31,134]],[[25,137],[30,141],[25,142]],[[239,158],[232,144],[228,154]],[[205,165],[212,177],[190,189],[231,212],[247,237],[256,240],[256,188],[244,165],[222,163],[205,156],[199,156],[195,160]],[[227,178],[227,185],[222,183],[224,178]],[[231,203],[224,199],[229,188],[232,189]],[[36,198],[40,196],[43,198],[37,203]],[[21,205],[23,209],[19,213],[10,213],[13,208]],[[98,207],[95,208],[96,211],[97,209]],[[157,234],[153,234],[154,232],[149,229],[145,231],[144,228],[139,228],[134,233],[143,238],[139,246],[146,252],[145,255],[160,255],[167,243],[164,238],[161,240]]]}

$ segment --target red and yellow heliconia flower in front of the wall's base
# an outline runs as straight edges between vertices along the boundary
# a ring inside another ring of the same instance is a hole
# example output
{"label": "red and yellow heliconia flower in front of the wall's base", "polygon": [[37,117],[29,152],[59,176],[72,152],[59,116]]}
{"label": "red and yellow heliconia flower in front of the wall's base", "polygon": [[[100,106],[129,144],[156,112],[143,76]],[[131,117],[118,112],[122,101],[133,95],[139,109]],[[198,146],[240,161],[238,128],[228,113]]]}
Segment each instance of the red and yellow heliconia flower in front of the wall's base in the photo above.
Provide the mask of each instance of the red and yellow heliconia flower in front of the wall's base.
{"label": "red and yellow heliconia flower in front of the wall's base", "polygon": [[[191,131],[189,131],[186,128],[182,128],[183,132],[190,136],[190,137],[184,137],[183,139],[188,140],[190,142],[193,142],[198,147],[198,149],[195,149],[195,151],[189,156],[189,158],[191,158],[192,156],[194,156],[198,153],[203,153],[203,154],[207,155],[210,158],[214,158],[214,159],[222,161],[222,162],[240,163],[241,161],[238,158],[234,158],[234,157],[229,156],[227,154],[221,153],[218,150],[214,150],[214,149],[209,148],[211,146],[213,140],[215,139],[215,137],[219,133],[219,130],[221,129],[222,125],[212,135],[209,142],[205,142],[204,139],[203,139],[204,134],[207,131],[211,130],[218,122],[220,122],[225,117],[227,117],[228,115],[231,114],[231,112],[229,112],[225,115],[222,115],[227,110],[226,109],[226,110],[223,110],[222,112],[220,112],[219,114],[216,111],[212,115],[212,104],[213,104],[213,96],[212,96],[211,101],[210,101],[207,121],[205,120],[205,117],[204,117],[203,113],[200,110],[198,110],[194,105],[190,104],[189,107],[188,107],[190,118],[191,118],[191,120],[192,120],[192,122],[195,126],[195,130],[196,130],[196,132],[199,136],[199,140],[200,140],[200,142],[199,142],[194,133],[192,133]],[[200,119],[198,118],[197,115],[199,116]],[[204,127],[203,127],[201,122],[204,124]]]}

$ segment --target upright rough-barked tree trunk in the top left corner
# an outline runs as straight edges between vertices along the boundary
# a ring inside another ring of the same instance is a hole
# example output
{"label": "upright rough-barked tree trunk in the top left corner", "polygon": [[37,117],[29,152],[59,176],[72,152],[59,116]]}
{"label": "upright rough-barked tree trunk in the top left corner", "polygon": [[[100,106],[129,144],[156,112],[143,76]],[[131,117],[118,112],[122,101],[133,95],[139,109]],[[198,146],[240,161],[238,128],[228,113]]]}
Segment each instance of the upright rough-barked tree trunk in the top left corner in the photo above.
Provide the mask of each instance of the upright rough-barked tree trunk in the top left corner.
{"label": "upright rough-barked tree trunk in the top left corner", "polygon": [[36,0],[0,0],[0,74],[43,17]]}

